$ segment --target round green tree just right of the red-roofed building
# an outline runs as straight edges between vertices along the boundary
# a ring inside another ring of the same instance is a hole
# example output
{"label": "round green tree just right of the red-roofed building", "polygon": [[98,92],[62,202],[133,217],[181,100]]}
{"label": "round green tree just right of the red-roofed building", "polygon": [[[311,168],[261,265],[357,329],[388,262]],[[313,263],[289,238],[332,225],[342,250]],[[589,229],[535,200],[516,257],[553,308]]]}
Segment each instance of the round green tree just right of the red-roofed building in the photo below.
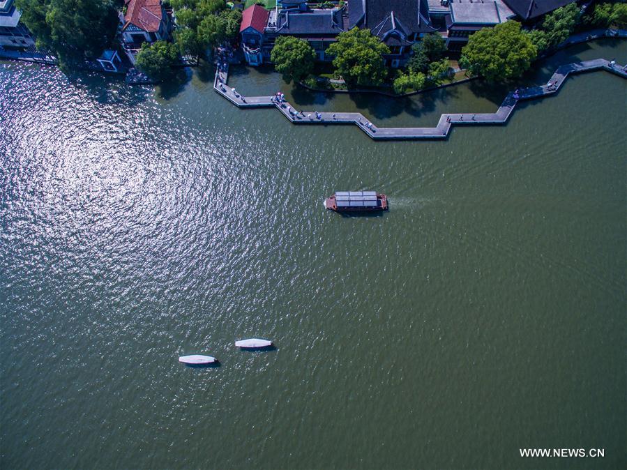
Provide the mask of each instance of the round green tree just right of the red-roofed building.
{"label": "round green tree just right of the red-roofed building", "polygon": [[287,83],[309,75],[315,59],[316,53],[309,43],[294,36],[279,36],[270,54],[276,71],[283,75]]}

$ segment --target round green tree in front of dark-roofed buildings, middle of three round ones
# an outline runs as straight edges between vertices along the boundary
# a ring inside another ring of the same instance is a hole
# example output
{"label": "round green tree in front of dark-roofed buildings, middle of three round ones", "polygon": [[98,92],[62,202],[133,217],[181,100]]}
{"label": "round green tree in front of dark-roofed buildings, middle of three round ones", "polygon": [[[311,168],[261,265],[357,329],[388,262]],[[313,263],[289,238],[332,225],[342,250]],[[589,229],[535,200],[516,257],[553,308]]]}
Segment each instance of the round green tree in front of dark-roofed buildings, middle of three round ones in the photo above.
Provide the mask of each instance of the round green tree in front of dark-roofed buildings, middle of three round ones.
{"label": "round green tree in front of dark-roofed buildings, middle of three round ones", "polygon": [[327,52],[335,56],[335,71],[349,85],[379,85],[387,75],[383,56],[390,50],[368,29],[340,33]]}

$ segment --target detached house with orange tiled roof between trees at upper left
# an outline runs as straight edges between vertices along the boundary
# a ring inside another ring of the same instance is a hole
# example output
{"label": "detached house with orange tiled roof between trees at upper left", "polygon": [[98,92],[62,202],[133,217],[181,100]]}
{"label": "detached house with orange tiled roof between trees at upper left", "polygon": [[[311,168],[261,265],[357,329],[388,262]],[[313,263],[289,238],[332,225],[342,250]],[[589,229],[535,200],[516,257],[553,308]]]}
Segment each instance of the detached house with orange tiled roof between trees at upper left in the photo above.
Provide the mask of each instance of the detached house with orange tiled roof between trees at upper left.
{"label": "detached house with orange tiled roof between trees at upper left", "polygon": [[127,45],[167,40],[172,25],[161,0],[126,0],[122,37]]}

